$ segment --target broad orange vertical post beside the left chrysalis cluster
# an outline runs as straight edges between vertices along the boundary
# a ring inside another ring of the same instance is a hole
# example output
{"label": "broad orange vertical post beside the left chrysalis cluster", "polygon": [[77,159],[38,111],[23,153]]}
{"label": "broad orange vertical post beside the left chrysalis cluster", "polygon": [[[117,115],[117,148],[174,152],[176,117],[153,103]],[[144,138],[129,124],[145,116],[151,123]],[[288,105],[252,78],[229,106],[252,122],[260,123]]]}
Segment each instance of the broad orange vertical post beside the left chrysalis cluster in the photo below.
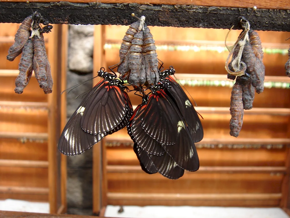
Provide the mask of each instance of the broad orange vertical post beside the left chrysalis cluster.
{"label": "broad orange vertical post beside the left chrysalis cluster", "polygon": [[[48,60],[50,62],[53,79],[52,93],[48,94],[48,201],[50,213],[57,212],[57,141],[60,132],[60,77],[59,73],[59,25],[53,25],[52,32],[48,36]],[[46,37],[45,36],[45,37]]]}

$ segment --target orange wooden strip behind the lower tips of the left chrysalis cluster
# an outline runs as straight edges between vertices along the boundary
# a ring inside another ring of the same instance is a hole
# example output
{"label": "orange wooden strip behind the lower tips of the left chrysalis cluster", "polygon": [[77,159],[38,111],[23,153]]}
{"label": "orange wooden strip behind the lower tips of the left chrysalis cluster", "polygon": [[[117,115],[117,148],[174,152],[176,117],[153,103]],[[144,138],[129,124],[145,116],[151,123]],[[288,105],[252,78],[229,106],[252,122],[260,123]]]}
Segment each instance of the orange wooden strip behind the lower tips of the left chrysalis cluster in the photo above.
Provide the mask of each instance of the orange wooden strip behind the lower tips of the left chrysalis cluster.
{"label": "orange wooden strip behind the lower tips of the left chrysalis cluster", "polygon": [[47,95],[39,87],[35,77],[30,79],[22,94],[14,92],[15,79],[16,77],[1,77],[0,101],[47,101]]}

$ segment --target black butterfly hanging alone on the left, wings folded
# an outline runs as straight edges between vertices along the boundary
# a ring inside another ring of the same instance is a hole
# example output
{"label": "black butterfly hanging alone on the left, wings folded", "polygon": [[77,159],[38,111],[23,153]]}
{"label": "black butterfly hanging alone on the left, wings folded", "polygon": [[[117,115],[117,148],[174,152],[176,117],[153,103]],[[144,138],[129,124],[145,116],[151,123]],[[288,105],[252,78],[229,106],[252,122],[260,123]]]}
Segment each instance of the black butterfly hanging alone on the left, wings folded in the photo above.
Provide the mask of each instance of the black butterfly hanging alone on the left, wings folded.
{"label": "black butterfly hanging alone on the left, wings folded", "polygon": [[61,133],[58,149],[65,155],[83,153],[106,135],[124,128],[133,114],[123,82],[103,68],[98,76],[103,80],[87,94]]}

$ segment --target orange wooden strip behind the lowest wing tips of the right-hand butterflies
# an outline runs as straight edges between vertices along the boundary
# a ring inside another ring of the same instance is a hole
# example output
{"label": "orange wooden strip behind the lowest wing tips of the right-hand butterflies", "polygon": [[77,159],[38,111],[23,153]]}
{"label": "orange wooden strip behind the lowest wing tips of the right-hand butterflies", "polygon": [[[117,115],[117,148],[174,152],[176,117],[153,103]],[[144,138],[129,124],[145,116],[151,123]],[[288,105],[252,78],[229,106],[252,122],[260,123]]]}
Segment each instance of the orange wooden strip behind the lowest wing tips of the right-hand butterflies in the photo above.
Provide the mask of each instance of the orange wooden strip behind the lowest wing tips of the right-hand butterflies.
{"label": "orange wooden strip behind the lowest wing tips of the right-hand butterflies", "polygon": [[[108,165],[139,165],[132,147],[107,148]],[[197,149],[201,166],[284,166],[285,149]]]}

